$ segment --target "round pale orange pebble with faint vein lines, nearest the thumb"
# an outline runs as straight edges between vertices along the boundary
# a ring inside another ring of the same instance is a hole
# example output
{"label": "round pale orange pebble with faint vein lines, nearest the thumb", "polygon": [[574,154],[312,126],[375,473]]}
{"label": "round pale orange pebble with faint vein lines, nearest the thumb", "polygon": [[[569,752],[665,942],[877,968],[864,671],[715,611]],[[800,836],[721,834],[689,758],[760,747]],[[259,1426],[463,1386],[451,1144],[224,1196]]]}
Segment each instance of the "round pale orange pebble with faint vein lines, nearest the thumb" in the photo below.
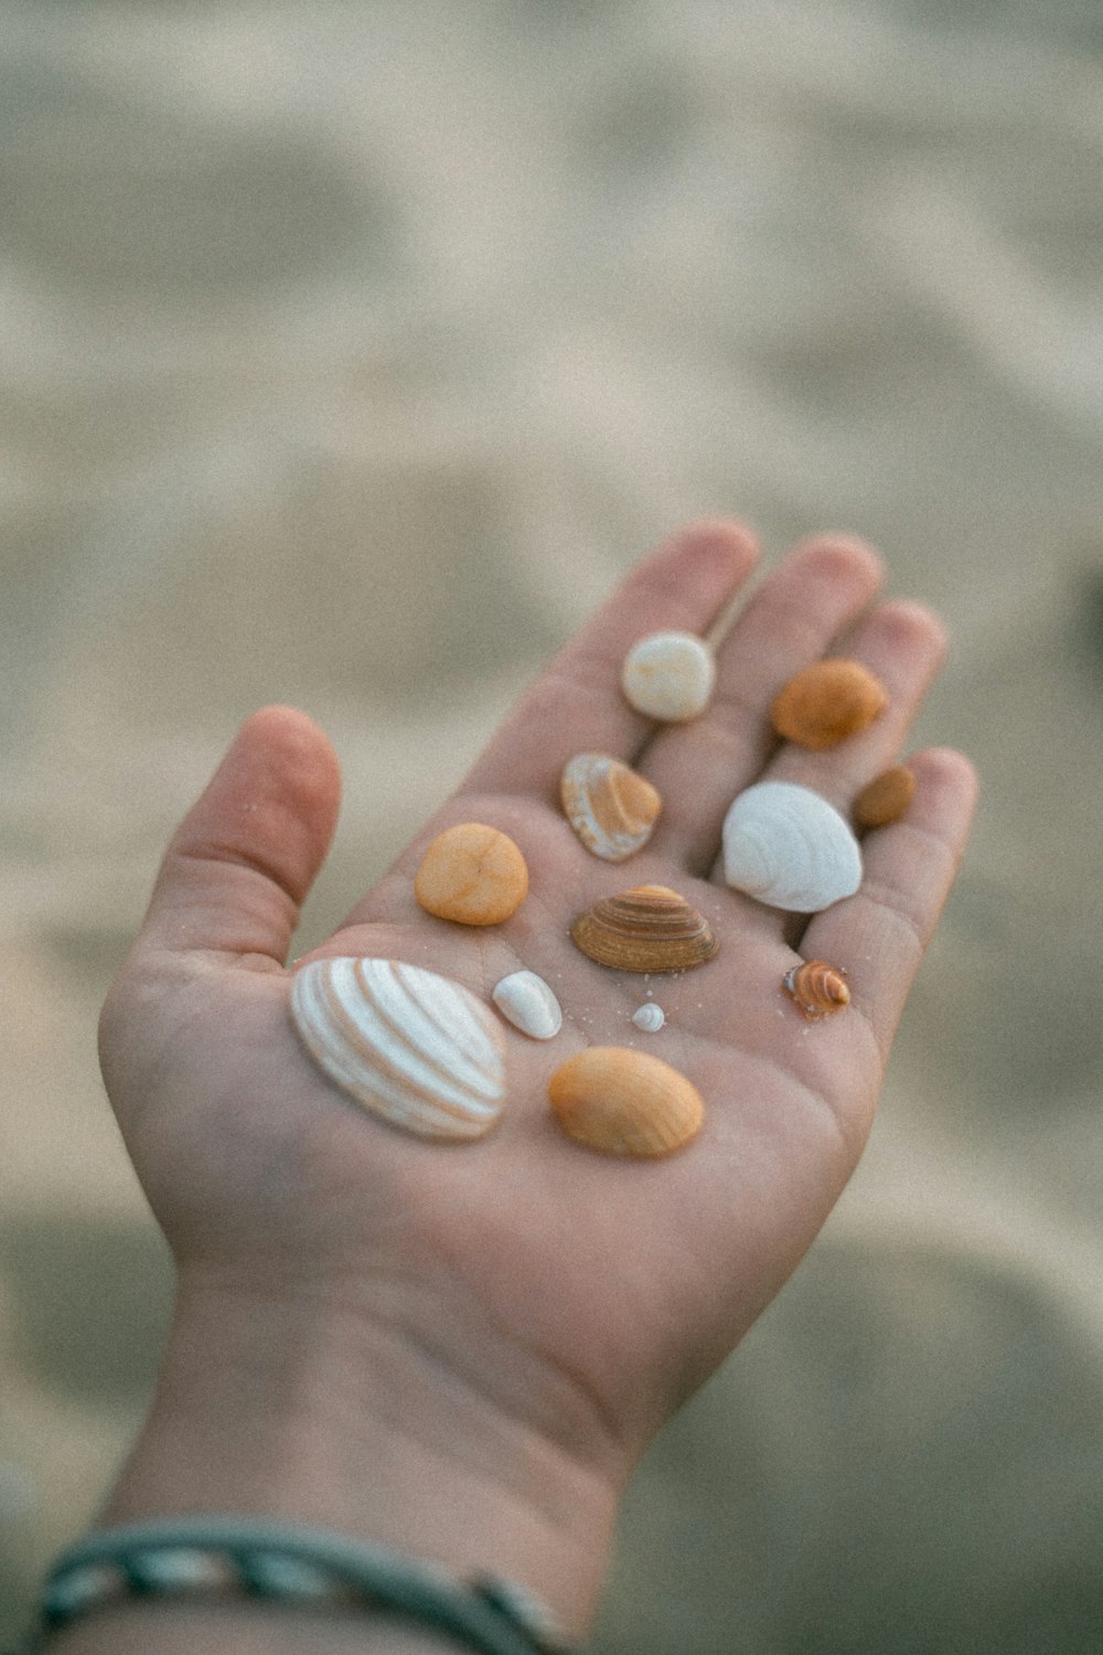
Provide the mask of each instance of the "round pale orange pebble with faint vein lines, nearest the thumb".
{"label": "round pale orange pebble with faint vein lines, nearest the thumb", "polygon": [[524,902],[529,871],[513,839],[485,823],[437,834],[413,879],[427,914],[460,925],[499,925]]}

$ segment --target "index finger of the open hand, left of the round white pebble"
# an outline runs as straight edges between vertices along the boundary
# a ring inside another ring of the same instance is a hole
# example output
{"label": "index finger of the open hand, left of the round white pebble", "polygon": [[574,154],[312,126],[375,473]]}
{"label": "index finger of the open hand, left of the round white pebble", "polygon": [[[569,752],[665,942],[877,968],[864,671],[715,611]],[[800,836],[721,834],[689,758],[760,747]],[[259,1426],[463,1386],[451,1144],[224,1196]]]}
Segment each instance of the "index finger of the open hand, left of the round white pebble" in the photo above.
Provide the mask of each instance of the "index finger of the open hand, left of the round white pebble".
{"label": "index finger of the open hand, left of the round white pebble", "polygon": [[574,753],[630,761],[655,727],[622,695],[625,654],[648,632],[708,632],[756,559],[754,536],[726,520],[660,546],[526,690],[460,793],[546,794]]}

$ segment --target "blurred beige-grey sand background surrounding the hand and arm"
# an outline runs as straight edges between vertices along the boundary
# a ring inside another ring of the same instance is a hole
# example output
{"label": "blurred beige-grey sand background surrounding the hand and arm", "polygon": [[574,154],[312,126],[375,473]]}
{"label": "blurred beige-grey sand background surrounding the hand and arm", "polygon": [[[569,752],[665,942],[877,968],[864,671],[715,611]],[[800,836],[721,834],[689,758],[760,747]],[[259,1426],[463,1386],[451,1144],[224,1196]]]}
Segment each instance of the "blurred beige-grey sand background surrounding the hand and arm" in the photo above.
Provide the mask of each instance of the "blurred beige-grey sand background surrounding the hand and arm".
{"label": "blurred beige-grey sand background surrounding the hand and arm", "polygon": [[99,1001],[238,722],[304,943],[681,521],[881,546],[984,799],[868,1155],[602,1655],[1103,1648],[1096,0],[0,3],[0,1632],[152,1384]]}

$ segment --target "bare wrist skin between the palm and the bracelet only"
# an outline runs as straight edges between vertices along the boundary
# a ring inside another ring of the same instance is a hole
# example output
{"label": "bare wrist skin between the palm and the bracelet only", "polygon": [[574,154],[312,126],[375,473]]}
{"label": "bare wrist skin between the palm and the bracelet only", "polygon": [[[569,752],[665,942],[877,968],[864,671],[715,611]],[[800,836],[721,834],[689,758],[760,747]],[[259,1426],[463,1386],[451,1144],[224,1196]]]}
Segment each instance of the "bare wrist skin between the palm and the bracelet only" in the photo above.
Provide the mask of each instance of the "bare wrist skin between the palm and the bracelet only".
{"label": "bare wrist skin between the palm and the bracelet only", "polygon": [[[615,1456],[569,1450],[442,1352],[339,1294],[184,1281],[154,1405],[103,1521],[321,1524],[458,1576],[516,1579],[577,1638],[609,1557]],[[494,1352],[485,1360],[501,1374]]]}

